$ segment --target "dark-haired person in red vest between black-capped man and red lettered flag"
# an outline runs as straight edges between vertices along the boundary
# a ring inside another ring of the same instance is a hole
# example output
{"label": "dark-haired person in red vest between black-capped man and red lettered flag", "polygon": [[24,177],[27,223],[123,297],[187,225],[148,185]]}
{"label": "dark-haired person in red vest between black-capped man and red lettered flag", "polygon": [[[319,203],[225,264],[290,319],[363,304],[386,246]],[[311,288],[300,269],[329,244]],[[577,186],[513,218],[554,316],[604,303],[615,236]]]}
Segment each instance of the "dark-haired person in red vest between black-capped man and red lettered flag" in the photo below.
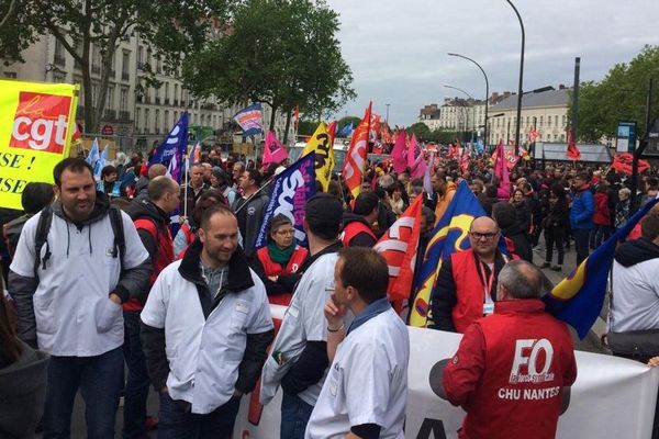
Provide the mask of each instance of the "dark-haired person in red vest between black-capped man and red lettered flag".
{"label": "dark-haired person in red vest between black-capped man and red lettered flag", "polygon": [[343,216],[342,243],[344,247],[372,247],[378,239],[371,226],[380,213],[380,199],[375,192],[361,192],[355,199],[353,212]]}

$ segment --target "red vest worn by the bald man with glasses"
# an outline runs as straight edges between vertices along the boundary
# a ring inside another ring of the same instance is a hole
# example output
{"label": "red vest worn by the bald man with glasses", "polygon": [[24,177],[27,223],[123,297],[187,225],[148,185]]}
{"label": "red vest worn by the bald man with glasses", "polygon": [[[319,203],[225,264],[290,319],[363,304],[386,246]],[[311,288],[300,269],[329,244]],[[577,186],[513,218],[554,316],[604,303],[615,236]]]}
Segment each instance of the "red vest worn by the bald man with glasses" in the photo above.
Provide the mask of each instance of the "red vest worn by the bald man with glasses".
{"label": "red vest worn by the bald man with glasses", "polygon": [[[513,259],[518,258],[513,256]],[[451,312],[453,322],[456,330],[465,334],[469,325],[483,316],[484,285],[478,273],[472,249],[453,254],[450,263],[458,301]]]}

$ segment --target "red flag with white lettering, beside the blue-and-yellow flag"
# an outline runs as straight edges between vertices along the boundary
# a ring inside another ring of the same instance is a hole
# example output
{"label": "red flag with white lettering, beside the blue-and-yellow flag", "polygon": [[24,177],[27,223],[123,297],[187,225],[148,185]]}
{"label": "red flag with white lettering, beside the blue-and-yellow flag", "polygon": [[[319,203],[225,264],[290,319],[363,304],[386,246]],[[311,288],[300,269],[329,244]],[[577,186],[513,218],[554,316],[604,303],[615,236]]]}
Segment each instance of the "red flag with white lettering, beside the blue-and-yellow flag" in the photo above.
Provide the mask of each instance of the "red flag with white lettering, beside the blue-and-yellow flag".
{"label": "red flag with white lettering, beside the blue-and-yellow flag", "polygon": [[423,199],[417,196],[373,247],[384,257],[389,267],[387,293],[390,301],[406,300],[412,290]]}

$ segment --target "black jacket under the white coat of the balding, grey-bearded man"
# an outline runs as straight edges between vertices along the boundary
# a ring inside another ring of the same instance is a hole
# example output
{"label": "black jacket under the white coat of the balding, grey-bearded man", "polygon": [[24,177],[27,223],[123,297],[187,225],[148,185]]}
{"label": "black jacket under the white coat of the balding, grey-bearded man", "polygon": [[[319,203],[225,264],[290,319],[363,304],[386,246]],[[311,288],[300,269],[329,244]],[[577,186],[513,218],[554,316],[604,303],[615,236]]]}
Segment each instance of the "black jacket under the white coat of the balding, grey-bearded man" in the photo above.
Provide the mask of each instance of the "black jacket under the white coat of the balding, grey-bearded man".
{"label": "black jacket under the white coat of the balding, grey-bearded man", "polygon": [[[254,280],[252,279],[252,272],[249,271],[245,255],[238,247],[228,261],[226,285],[222,288],[220,294],[213,300],[201,274],[199,264],[201,250],[202,244],[199,240],[192,243],[188,247],[178,271],[183,279],[197,286],[203,316],[208,318],[226,294],[241,294],[241,292],[254,286]],[[266,361],[266,351],[273,338],[273,329],[247,335],[247,345],[243,354],[243,361],[238,365],[238,380],[235,384],[236,389],[241,392],[249,393],[254,390]],[[165,386],[167,376],[169,375],[169,363],[165,353],[165,329],[154,328],[142,323],[141,339],[150,381],[154,387],[160,391]]]}

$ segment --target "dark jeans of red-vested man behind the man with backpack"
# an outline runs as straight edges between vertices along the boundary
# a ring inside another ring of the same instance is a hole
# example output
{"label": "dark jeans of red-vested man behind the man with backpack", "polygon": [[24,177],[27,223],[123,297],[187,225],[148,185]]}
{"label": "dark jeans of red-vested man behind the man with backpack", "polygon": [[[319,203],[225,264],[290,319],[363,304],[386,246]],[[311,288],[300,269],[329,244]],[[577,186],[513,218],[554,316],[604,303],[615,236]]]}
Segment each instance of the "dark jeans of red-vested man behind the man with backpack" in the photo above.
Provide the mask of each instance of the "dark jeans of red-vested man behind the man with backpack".
{"label": "dark jeans of red-vested man behind the man with backpack", "polygon": [[148,372],[139,341],[139,313],[124,312],[124,358],[129,376],[124,389],[124,439],[143,438],[146,428]]}

